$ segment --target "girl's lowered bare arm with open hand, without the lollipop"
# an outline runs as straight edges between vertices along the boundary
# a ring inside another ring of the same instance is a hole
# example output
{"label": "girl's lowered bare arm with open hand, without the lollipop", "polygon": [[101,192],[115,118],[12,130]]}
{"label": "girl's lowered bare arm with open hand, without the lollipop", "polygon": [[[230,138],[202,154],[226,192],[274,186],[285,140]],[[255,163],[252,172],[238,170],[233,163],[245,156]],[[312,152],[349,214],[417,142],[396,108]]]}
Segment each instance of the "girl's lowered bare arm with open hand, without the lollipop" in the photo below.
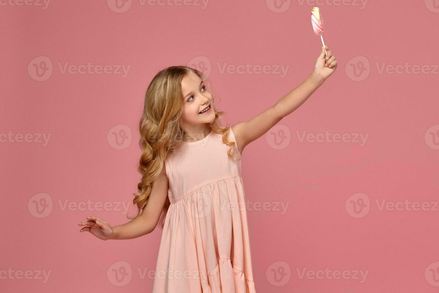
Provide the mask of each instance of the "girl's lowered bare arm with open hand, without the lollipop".
{"label": "girl's lowered bare arm with open hand, without the lollipop", "polygon": [[166,166],[163,163],[162,172],[153,181],[148,204],[142,210],[139,217],[115,227],[111,227],[99,217],[87,217],[86,221],[79,222],[84,227],[80,232],[88,231],[102,240],[109,239],[133,239],[154,231],[165,205],[168,195],[169,180],[166,176]]}

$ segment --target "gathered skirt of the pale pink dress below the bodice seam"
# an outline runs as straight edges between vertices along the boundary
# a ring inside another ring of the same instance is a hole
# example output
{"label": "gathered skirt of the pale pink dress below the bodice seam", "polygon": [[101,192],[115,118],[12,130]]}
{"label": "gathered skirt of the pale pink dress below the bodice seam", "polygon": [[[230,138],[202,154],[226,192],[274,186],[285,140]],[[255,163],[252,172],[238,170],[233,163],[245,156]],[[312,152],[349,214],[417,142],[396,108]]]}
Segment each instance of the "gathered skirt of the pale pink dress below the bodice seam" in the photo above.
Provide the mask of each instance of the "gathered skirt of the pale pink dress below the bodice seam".
{"label": "gathered skirt of the pale pink dress below the bodice seam", "polygon": [[[153,293],[162,292],[155,288],[191,293],[256,292],[240,175],[205,184],[171,203],[163,229],[169,235],[162,236],[157,271],[198,270],[194,275],[199,277],[184,282],[156,279]],[[177,255],[180,253],[184,257]]]}

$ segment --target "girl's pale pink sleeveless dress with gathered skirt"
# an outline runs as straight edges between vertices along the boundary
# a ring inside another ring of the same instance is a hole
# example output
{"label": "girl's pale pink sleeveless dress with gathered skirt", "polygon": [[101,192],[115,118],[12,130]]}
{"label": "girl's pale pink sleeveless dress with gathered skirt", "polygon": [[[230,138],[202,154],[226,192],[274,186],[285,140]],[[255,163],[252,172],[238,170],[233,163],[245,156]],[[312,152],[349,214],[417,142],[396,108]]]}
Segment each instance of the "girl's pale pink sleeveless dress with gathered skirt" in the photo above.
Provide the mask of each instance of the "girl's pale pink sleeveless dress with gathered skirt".
{"label": "girl's pale pink sleeveless dress with gathered skirt", "polygon": [[[256,292],[241,161],[227,156],[228,148],[211,131],[165,160],[171,204],[152,293]],[[236,144],[231,152],[242,158]]]}

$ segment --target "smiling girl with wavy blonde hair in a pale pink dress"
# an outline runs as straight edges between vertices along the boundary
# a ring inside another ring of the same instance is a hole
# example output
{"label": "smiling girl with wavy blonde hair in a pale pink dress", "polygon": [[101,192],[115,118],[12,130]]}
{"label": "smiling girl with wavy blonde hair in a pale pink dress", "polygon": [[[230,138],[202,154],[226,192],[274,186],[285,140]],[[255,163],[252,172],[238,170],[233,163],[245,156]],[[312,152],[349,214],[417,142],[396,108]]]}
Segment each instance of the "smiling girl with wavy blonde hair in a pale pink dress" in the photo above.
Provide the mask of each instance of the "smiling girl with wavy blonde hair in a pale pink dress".
{"label": "smiling girl with wavy blonde hair in a pale pink dress", "polygon": [[201,72],[186,66],[158,72],[140,119],[137,216],[115,227],[87,217],[79,222],[87,226],[80,232],[102,240],[132,239],[159,223],[163,232],[153,293],[255,293],[242,151],[302,105],[336,68],[332,51],[325,56],[321,47],[303,83],[232,127],[219,123],[223,112],[215,109]]}

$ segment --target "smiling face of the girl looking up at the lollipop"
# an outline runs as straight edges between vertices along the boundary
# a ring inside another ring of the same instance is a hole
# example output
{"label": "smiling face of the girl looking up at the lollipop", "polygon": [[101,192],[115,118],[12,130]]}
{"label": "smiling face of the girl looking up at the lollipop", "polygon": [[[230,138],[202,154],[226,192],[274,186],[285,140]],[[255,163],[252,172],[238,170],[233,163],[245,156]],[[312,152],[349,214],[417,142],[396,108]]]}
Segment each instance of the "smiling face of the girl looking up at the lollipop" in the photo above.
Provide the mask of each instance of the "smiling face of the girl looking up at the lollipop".
{"label": "smiling face of the girl looking up at the lollipop", "polygon": [[[183,92],[183,121],[188,125],[210,123],[215,119],[212,94],[194,72],[189,72],[181,81]],[[205,109],[207,111],[200,114]]]}

